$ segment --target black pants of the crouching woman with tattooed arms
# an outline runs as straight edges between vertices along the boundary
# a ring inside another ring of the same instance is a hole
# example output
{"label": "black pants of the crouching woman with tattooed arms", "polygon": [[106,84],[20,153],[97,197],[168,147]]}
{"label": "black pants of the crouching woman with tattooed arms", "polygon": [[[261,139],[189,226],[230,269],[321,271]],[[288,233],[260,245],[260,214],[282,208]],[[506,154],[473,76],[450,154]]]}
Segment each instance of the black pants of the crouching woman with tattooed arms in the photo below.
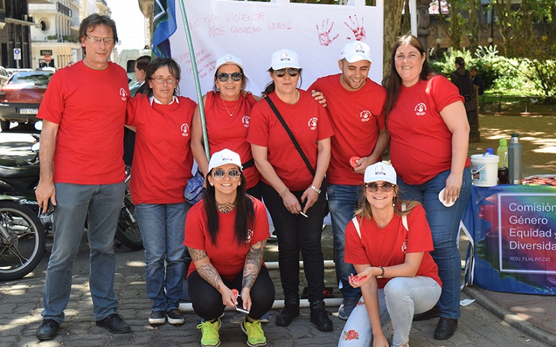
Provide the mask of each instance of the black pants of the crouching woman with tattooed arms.
{"label": "black pants of the crouching woman with tattooed arms", "polygon": [[[231,283],[222,278],[227,287],[238,289],[241,293],[243,273],[238,273]],[[204,280],[197,271],[193,271],[187,278],[189,297],[193,304],[195,313],[205,321],[217,319],[224,312],[225,306],[222,305],[222,295],[220,292]],[[259,276],[251,289],[251,310],[249,316],[252,319],[261,319],[263,314],[270,311],[274,303],[275,289],[274,283],[268,275],[268,269],[261,266]]]}

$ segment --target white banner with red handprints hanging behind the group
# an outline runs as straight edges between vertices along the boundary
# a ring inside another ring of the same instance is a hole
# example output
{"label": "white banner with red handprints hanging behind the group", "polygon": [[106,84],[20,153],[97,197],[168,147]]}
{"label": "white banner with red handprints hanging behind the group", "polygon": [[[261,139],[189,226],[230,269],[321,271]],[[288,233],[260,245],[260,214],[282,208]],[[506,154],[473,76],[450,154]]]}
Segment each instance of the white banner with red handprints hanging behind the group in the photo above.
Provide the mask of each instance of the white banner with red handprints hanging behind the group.
{"label": "white banner with red handprints hanging behind the group", "polygon": [[[270,58],[278,49],[293,49],[303,68],[306,89],[321,76],[336,74],[343,46],[352,40],[371,48],[369,77],[382,81],[383,8],[355,5],[320,5],[227,0],[184,0],[202,93],[212,90],[215,63],[231,53],[243,60],[247,90],[260,95],[270,82]],[[181,66],[180,92],[197,101],[193,68],[176,1],[177,31],[170,37],[172,58]]]}

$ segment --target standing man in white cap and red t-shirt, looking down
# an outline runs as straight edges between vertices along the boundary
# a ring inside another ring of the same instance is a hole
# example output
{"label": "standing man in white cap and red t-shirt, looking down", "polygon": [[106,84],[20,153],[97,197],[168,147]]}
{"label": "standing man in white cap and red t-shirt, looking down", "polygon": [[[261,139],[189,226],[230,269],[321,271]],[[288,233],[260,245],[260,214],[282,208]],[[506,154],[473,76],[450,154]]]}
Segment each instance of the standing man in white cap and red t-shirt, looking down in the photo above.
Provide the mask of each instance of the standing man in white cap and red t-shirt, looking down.
{"label": "standing man in white cap and red t-shirt, looking down", "polygon": [[368,78],[371,62],[366,43],[350,42],[338,60],[341,74],[318,78],[309,87],[324,94],[334,129],[326,179],[336,277],[343,296],[338,318],[343,320],[347,320],[361,296],[361,290],[353,288],[347,279],[355,270],[344,262],[345,226],[357,208],[365,169],[382,160],[389,141],[382,113],[386,91]]}

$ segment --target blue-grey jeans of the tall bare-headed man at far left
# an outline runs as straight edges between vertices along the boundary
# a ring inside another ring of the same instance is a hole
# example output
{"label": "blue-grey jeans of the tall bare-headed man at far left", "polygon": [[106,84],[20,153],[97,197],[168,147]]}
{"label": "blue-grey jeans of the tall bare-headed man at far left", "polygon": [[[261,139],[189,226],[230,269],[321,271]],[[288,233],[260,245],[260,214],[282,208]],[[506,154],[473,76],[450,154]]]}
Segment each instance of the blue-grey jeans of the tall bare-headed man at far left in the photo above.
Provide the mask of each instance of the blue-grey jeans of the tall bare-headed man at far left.
{"label": "blue-grey jeans of the tall bare-headed man at far left", "polygon": [[124,203],[124,183],[113,185],[74,185],[56,183],[54,245],[44,281],[42,303],[44,319],[64,320],[64,310],[72,290],[72,269],[88,223],[90,273],[89,286],[95,319],[117,311],[114,293],[114,235]]}

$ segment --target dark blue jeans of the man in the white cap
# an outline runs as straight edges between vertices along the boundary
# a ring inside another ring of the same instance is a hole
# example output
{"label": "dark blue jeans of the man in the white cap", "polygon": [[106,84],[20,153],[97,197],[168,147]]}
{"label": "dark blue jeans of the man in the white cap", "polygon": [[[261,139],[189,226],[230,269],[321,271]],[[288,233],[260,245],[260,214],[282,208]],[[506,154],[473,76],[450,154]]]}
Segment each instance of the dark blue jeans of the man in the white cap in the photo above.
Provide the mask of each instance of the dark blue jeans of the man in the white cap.
{"label": "dark blue jeans of the man in the white cap", "polygon": [[338,289],[343,298],[358,299],[361,289],[354,288],[347,280],[350,273],[356,271],[352,264],[344,262],[345,227],[359,206],[360,185],[328,185],[328,208],[332,219],[332,233],[334,234],[334,262],[336,263],[336,277]]}

